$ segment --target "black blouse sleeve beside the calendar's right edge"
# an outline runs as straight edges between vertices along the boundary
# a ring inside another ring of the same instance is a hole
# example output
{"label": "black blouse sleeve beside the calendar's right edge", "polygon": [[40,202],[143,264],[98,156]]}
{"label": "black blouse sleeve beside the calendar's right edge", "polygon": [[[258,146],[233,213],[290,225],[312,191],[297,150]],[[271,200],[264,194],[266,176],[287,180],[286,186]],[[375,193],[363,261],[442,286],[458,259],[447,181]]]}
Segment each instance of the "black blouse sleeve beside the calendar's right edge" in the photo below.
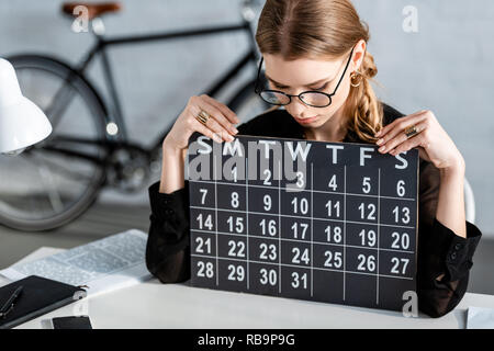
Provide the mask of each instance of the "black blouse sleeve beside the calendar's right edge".
{"label": "black blouse sleeve beside the calendar's right edge", "polygon": [[[417,250],[418,309],[441,317],[462,299],[469,283],[472,258],[482,236],[467,222],[467,238],[456,235],[436,218],[439,170],[420,161],[419,224]],[[440,280],[437,280],[444,275]]]}

